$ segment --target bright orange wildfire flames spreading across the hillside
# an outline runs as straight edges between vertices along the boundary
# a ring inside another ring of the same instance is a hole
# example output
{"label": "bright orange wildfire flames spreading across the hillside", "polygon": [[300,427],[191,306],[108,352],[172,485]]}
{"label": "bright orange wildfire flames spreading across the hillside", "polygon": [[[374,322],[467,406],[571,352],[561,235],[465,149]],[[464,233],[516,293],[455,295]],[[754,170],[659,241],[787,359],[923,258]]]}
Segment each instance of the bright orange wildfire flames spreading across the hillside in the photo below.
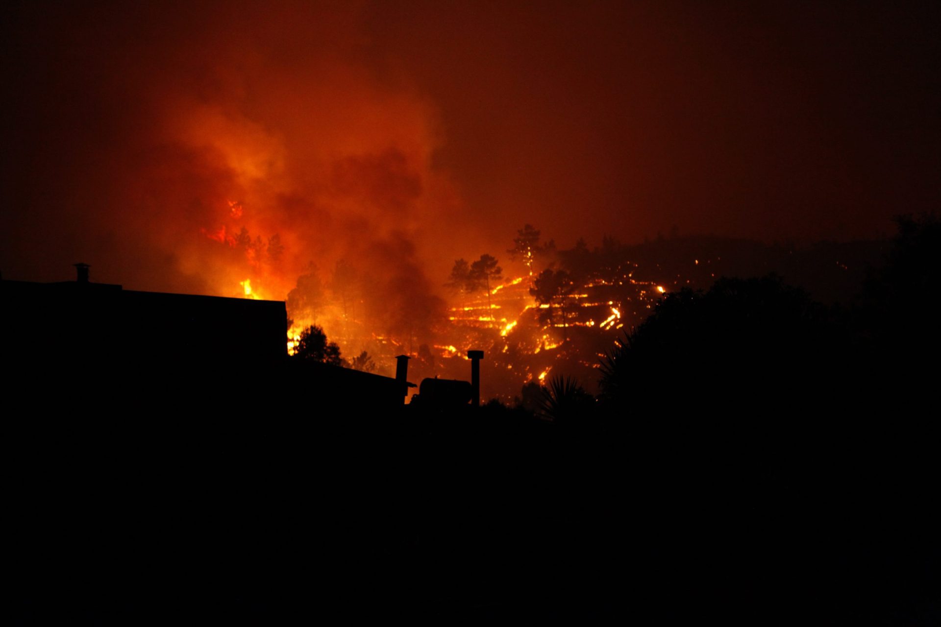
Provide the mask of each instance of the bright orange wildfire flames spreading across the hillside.
{"label": "bright orange wildfire flames spreading across the hillside", "polygon": [[[254,223],[255,205],[248,204],[248,200],[250,197],[243,205],[239,200],[225,200],[223,196],[217,203],[218,222],[200,229],[202,238],[212,242],[206,245],[217,246],[220,255],[240,264],[238,268],[231,267],[220,274],[215,291],[252,300],[288,301],[293,283],[291,276],[283,280],[281,274],[289,272],[287,267],[291,257],[283,251],[294,241],[290,235],[282,233],[284,243],[281,240],[267,242],[269,238],[265,231]],[[282,265],[279,266],[278,262]],[[668,282],[657,282],[669,280],[662,276],[654,280],[635,280],[627,269],[618,268],[617,274],[611,277],[593,277],[590,282],[566,284],[566,290],[572,293],[559,293],[550,302],[539,303],[528,290],[531,279],[523,275],[508,278],[502,285],[493,286],[491,283],[489,291],[462,293],[459,299],[442,306],[439,309],[442,318],[451,324],[442,325],[442,330],[436,331],[435,336],[401,337],[397,334],[405,331],[389,329],[384,337],[379,337],[369,328],[371,320],[367,307],[370,301],[364,297],[359,276],[350,274],[350,278],[343,274],[343,280],[339,280],[329,274],[329,267],[328,260],[318,260],[318,266],[311,265],[312,269],[303,275],[308,284],[298,278],[297,293],[304,296],[304,290],[310,288],[307,297],[315,305],[311,305],[310,310],[303,309],[300,308],[305,303],[303,298],[294,299],[301,305],[295,306],[294,312],[288,311],[293,321],[287,337],[284,337],[288,354],[297,353],[301,329],[316,323],[324,329],[330,341],[340,345],[347,360],[368,350],[375,363],[382,365],[391,363],[392,355],[417,353],[422,358],[413,364],[414,376],[466,378],[467,366],[463,362],[468,357],[464,354],[465,349],[483,344],[495,358],[494,368],[501,370],[490,384],[494,390],[505,393],[507,399],[512,398],[513,388],[516,386],[518,389],[519,384],[534,381],[547,384],[553,368],[563,368],[559,371],[567,373],[568,367],[577,363],[580,365],[577,370],[581,372],[579,376],[590,377],[581,368],[598,368],[599,364],[597,360],[581,359],[585,342],[602,341],[603,338],[592,334],[614,336],[615,329],[635,324],[640,319],[639,314],[646,315],[643,309],[655,305],[659,300],[658,294],[665,294],[668,291],[666,285],[669,285]],[[249,277],[239,279],[246,274]],[[351,284],[348,290],[337,287],[346,282]],[[235,291],[235,284],[240,291]],[[566,327],[565,331],[563,327]],[[536,353],[539,354],[534,358]],[[553,366],[547,366],[550,363]],[[391,376],[388,365],[385,368],[387,376]]]}

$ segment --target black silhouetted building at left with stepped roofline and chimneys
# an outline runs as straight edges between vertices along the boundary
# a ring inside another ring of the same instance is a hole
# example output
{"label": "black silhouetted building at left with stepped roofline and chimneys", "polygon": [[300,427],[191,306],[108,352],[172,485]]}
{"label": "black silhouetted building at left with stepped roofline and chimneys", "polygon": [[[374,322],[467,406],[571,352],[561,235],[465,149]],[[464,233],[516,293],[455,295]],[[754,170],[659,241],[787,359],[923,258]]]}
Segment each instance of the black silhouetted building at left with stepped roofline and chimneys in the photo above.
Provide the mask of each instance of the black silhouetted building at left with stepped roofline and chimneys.
{"label": "black silhouetted building at left with stepped roofline and chimneys", "polygon": [[[288,358],[281,301],[0,280],[8,395],[58,412],[381,415],[407,396],[397,378]],[[76,402],[81,400],[81,403]]]}

